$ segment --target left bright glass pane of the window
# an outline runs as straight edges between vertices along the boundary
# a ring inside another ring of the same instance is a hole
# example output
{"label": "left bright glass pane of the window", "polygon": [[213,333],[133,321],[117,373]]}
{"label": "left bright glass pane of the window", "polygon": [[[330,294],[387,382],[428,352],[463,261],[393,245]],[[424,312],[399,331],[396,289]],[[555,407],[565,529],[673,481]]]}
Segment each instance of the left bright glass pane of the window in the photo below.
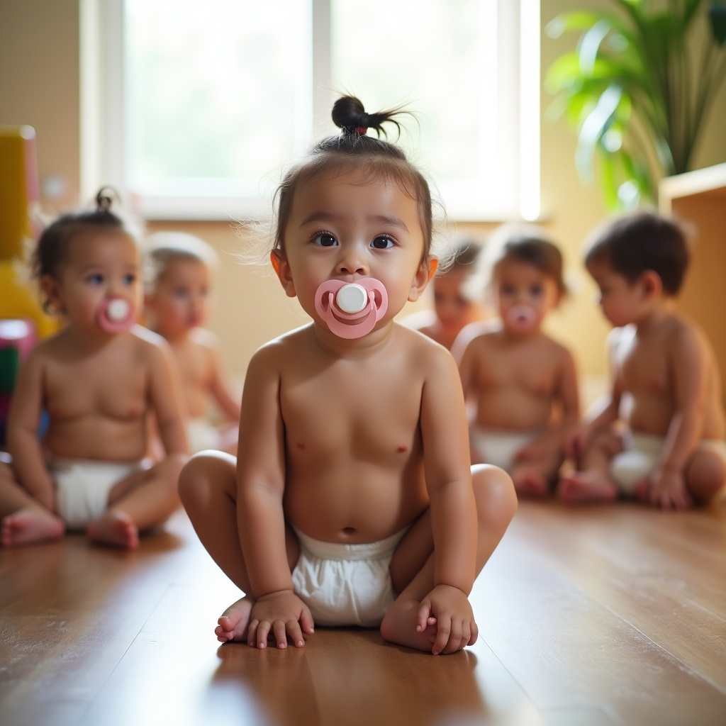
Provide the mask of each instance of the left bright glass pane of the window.
{"label": "left bright glass pane of the window", "polygon": [[131,187],[154,193],[171,185],[181,193],[194,177],[258,189],[301,132],[309,2],[125,5]]}

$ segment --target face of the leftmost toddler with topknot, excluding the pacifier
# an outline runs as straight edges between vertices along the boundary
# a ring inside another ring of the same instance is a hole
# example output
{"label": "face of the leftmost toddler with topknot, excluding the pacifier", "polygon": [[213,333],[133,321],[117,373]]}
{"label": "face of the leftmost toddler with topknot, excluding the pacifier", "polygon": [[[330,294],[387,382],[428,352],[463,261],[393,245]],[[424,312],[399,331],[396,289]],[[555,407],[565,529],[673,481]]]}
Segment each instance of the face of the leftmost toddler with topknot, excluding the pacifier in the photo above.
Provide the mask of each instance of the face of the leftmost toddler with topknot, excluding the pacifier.
{"label": "face of the leftmost toddler with topknot, excluding the pacifier", "polygon": [[134,319],[140,309],[139,249],[121,229],[89,229],[68,245],[57,279],[46,277],[43,284],[70,325],[98,333],[99,313],[108,301],[125,302]]}

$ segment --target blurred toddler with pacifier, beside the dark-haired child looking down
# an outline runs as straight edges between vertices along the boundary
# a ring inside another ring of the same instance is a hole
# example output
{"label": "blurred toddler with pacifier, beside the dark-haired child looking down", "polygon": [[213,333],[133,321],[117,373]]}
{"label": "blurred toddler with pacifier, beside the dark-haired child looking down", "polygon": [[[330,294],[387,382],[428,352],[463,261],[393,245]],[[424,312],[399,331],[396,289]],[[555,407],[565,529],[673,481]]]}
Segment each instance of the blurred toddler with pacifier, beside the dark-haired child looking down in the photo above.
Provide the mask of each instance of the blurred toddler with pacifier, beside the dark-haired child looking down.
{"label": "blurred toddler with pacifier, beside the dark-haired child looking down", "polygon": [[473,323],[452,352],[470,405],[472,460],[507,470],[519,494],[550,491],[579,417],[573,356],[542,332],[566,293],[560,250],[539,229],[502,227],[484,271],[499,319]]}

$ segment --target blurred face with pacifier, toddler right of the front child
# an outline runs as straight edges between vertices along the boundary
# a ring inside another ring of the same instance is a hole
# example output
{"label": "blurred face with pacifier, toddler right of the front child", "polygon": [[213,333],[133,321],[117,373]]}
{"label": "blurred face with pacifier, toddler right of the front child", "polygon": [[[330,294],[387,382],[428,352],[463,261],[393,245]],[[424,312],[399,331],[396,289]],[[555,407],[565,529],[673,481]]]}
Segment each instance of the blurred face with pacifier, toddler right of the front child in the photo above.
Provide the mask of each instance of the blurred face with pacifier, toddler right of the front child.
{"label": "blurred face with pacifier, toddler right of the front child", "polygon": [[555,280],[527,262],[502,260],[494,276],[494,293],[505,329],[515,335],[539,330],[544,316],[560,300]]}

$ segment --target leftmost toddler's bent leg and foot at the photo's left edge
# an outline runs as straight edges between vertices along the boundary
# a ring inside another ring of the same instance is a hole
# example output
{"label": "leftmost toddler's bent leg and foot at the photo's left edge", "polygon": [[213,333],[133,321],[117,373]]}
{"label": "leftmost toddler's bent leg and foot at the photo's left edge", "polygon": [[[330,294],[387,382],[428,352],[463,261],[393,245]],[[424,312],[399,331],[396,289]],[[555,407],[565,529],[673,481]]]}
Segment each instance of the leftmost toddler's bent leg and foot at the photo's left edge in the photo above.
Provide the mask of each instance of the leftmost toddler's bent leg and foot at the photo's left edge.
{"label": "leftmost toddler's bent leg and foot at the photo's left edge", "polygon": [[65,532],[62,519],[47,510],[17,483],[12,468],[0,463],[0,544],[15,547],[47,539]]}

